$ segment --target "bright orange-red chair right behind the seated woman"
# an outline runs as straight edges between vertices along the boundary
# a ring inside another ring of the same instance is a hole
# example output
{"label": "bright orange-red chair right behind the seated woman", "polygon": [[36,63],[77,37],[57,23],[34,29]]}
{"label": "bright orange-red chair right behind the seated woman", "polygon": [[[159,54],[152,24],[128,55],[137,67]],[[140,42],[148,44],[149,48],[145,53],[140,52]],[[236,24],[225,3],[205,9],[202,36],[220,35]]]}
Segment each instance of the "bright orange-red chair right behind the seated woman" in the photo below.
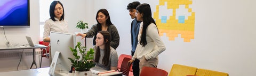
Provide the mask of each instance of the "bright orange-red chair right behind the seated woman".
{"label": "bright orange-red chair right behind the seated woman", "polygon": [[[122,64],[124,58],[130,58],[130,59],[132,59],[132,55],[121,54],[121,55],[119,56],[119,58],[118,58],[118,64],[117,64],[117,70],[118,70],[118,71],[121,71],[121,64]],[[130,66],[129,76],[133,76],[132,65]]]}

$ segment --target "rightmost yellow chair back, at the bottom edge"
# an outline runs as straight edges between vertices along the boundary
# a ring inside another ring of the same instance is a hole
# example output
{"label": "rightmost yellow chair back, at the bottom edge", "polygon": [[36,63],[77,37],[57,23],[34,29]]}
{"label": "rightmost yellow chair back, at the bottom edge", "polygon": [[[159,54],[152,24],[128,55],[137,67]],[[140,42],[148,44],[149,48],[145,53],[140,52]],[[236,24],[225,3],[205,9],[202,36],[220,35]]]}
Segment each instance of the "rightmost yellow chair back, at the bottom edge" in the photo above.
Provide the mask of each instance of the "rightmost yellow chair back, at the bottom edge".
{"label": "rightmost yellow chair back, at the bottom edge", "polygon": [[206,70],[206,69],[198,69],[196,72],[198,76],[228,76],[228,73]]}

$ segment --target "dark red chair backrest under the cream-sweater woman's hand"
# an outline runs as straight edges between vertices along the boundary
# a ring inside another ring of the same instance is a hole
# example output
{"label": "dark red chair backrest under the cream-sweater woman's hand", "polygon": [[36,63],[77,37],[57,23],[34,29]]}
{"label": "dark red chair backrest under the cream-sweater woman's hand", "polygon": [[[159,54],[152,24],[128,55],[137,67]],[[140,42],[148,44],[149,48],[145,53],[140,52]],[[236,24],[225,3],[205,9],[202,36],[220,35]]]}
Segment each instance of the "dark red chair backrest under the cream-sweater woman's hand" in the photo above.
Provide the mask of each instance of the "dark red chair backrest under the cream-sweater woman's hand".
{"label": "dark red chair backrest under the cream-sweater woman's hand", "polygon": [[130,67],[128,66],[128,61],[130,61],[131,58],[124,58],[121,64],[121,72],[123,72],[124,75],[129,75]]}

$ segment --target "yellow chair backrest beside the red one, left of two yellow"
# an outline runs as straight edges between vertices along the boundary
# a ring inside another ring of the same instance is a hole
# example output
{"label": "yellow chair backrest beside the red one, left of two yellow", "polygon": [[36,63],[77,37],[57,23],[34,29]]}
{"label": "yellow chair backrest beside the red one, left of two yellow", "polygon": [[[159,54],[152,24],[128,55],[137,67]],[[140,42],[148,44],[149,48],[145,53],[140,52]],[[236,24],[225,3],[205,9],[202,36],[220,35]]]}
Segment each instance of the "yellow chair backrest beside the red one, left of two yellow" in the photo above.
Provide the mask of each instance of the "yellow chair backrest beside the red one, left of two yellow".
{"label": "yellow chair backrest beside the red one, left of two yellow", "polygon": [[197,68],[186,65],[173,64],[169,76],[195,75]]}

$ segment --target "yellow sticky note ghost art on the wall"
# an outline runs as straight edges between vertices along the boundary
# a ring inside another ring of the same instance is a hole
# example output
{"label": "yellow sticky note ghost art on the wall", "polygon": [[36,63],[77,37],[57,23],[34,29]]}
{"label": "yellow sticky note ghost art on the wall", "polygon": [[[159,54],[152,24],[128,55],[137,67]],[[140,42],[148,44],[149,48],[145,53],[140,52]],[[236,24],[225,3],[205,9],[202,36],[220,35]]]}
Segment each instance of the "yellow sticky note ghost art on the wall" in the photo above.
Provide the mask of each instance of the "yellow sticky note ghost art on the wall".
{"label": "yellow sticky note ghost art on the wall", "polygon": [[166,33],[170,41],[175,41],[178,34],[184,42],[194,39],[195,12],[189,8],[191,4],[191,0],[159,0],[154,12],[159,35]]}

